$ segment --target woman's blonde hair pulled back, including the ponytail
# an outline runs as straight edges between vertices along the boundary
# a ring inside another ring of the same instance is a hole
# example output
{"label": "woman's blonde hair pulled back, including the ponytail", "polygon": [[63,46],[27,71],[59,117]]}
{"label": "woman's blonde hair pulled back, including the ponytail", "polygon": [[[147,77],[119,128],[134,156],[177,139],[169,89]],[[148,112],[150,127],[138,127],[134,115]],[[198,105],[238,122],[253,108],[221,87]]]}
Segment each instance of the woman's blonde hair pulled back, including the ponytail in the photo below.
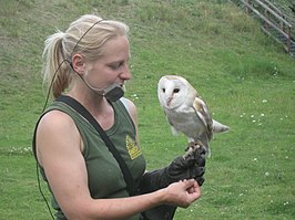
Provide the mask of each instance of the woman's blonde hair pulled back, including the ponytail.
{"label": "woman's blonde hair pulled back, including the ponytail", "polygon": [[105,53],[104,43],[118,35],[128,36],[129,27],[120,21],[103,20],[85,14],[72,22],[63,33],[50,35],[44,42],[43,83],[54,98],[69,88],[74,53],[83,54],[88,61],[99,60]]}

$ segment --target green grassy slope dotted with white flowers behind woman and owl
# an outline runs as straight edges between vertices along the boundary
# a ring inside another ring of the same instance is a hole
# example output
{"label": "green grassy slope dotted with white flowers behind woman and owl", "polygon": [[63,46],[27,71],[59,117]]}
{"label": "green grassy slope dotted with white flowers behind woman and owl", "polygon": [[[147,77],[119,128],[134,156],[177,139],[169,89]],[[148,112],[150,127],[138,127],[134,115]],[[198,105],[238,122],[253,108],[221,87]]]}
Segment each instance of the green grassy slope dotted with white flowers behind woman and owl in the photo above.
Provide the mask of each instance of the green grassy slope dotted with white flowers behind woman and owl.
{"label": "green grassy slope dotted with white flowers behind woman and owl", "polygon": [[[165,74],[186,77],[231,132],[211,143],[202,198],[175,219],[294,219],[295,61],[227,1],[3,0],[0,8],[0,219],[50,219],[30,150],[43,107],[41,54],[83,13],[131,28],[126,97],[139,109],[148,168],[183,154],[159,106]],[[43,191],[48,193],[45,185]]]}

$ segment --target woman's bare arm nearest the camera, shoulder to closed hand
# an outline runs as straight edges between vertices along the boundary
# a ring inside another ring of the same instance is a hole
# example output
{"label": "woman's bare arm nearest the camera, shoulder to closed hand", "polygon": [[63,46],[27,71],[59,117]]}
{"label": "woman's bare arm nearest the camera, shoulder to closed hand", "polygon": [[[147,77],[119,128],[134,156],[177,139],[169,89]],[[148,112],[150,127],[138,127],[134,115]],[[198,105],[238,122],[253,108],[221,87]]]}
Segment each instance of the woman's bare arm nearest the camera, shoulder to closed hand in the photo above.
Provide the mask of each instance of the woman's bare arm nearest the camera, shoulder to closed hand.
{"label": "woman's bare arm nearest the camera, shoulder to closed hand", "polygon": [[136,197],[92,199],[80,134],[73,121],[58,111],[48,113],[41,119],[37,146],[38,159],[69,220],[126,219],[161,203],[187,207],[200,197],[197,184],[189,180]]}

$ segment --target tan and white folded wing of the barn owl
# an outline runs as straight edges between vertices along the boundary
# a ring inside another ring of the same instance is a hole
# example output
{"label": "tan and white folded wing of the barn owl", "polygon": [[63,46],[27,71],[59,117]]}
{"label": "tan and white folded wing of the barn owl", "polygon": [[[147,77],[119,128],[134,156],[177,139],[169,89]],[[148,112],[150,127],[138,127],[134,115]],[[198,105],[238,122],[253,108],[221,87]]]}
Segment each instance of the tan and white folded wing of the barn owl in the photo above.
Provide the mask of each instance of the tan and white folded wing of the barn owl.
{"label": "tan and white folded wing of the barn owl", "polygon": [[196,96],[193,103],[193,107],[196,115],[205,126],[205,130],[202,136],[206,134],[207,140],[210,142],[213,137],[213,119],[210,115],[207,105],[200,96]]}

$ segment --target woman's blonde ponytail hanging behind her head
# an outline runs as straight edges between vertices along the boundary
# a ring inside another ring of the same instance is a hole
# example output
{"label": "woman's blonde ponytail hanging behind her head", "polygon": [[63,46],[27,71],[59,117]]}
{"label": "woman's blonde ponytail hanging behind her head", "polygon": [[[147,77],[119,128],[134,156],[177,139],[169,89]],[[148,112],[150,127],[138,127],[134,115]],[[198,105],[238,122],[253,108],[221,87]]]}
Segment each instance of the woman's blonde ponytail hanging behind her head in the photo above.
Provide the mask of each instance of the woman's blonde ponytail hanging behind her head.
{"label": "woman's blonde ponytail hanging behind her head", "polygon": [[45,40],[43,51],[43,84],[57,98],[70,85],[71,66],[64,57],[63,40],[64,33],[58,31]]}

